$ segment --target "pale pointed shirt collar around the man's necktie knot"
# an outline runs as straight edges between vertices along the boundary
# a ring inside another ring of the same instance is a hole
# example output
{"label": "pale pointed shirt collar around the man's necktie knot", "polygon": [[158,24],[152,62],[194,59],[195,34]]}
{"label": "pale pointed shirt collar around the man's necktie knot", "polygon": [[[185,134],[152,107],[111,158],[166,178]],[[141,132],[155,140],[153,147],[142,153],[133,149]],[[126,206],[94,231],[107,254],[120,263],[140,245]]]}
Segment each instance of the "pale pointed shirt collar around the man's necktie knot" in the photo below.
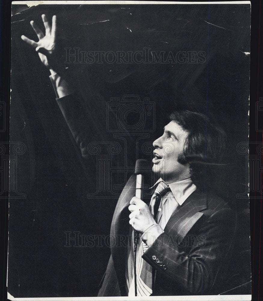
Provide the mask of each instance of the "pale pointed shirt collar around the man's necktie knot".
{"label": "pale pointed shirt collar around the man's necktie knot", "polygon": [[[164,182],[164,180],[162,178],[160,178],[154,184],[154,186],[157,185],[161,181]],[[180,206],[182,206],[182,204],[189,197],[189,195],[192,194],[197,189],[197,187],[192,182],[191,178],[184,179],[181,181],[176,181],[176,182],[167,184],[167,186],[170,187],[170,189],[173,193],[173,196],[175,197],[177,203]]]}

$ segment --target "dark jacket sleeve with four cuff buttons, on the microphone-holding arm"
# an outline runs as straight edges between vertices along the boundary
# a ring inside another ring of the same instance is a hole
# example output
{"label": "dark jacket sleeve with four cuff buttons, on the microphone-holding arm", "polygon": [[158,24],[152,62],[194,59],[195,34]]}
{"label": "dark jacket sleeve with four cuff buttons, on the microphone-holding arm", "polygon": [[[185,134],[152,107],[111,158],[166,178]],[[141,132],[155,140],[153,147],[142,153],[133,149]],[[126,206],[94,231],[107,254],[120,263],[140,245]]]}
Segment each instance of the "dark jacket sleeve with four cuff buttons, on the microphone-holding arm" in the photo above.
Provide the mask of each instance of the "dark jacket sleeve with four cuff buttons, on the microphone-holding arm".
{"label": "dark jacket sleeve with four cuff buttons, on the microphone-holding arm", "polygon": [[193,235],[181,240],[176,231],[164,231],[142,255],[157,272],[194,294],[213,286],[232,244],[235,216],[225,207],[197,223],[194,243]]}

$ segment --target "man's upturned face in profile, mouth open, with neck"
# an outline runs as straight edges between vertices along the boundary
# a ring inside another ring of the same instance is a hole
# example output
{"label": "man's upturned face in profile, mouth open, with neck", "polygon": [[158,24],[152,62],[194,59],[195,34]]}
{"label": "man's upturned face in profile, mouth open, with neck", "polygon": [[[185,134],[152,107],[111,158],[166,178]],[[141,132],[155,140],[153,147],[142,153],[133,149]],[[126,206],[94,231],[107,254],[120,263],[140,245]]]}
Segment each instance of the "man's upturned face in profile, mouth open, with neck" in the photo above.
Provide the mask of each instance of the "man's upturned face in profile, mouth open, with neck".
{"label": "man's upturned face in profile, mouth open, with neck", "polygon": [[160,173],[168,184],[190,177],[189,164],[178,162],[183,155],[188,132],[176,122],[171,121],[164,127],[164,134],[153,142],[154,158],[152,171]]}

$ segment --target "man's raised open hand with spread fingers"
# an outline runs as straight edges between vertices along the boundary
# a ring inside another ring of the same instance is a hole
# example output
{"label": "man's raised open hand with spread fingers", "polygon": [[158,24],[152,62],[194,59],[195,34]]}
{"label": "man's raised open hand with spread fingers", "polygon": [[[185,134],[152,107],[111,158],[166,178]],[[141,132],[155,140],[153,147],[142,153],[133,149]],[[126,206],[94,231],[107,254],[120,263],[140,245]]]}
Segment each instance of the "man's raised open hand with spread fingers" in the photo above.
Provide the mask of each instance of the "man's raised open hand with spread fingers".
{"label": "man's raised open hand with spread fingers", "polygon": [[56,30],[57,30],[57,18],[52,17],[52,26],[47,20],[46,15],[42,15],[42,20],[45,26],[45,35],[41,29],[31,21],[30,24],[34,29],[36,35],[38,36],[38,42],[35,42],[26,36],[21,36],[21,39],[27,44],[31,45],[38,52],[41,62],[49,69],[57,69],[57,59],[56,59]]}

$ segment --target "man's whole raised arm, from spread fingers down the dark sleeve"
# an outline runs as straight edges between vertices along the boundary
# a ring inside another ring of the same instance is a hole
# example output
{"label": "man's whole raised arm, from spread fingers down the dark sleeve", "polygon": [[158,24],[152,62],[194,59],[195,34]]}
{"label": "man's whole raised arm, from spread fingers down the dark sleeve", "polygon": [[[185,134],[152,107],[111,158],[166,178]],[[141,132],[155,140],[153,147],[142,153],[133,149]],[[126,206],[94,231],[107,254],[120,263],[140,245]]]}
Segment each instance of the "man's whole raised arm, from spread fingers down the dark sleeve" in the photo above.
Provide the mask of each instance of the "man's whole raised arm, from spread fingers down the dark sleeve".
{"label": "man's whole raised arm, from spread fingers down the dark sleeve", "polygon": [[[92,116],[90,116],[90,112],[87,111],[79,93],[73,90],[71,84],[73,81],[69,78],[68,74],[66,74],[66,70],[64,70],[60,63],[57,44],[57,17],[52,17],[52,26],[50,26],[44,14],[42,15],[42,20],[45,34],[34,21],[30,22],[38,37],[38,42],[24,35],[21,36],[21,39],[35,48],[41,62],[50,70],[50,80],[57,96],[57,103],[76,143],[81,149],[82,155],[86,157],[93,119]],[[96,134],[94,135],[96,136]]]}

